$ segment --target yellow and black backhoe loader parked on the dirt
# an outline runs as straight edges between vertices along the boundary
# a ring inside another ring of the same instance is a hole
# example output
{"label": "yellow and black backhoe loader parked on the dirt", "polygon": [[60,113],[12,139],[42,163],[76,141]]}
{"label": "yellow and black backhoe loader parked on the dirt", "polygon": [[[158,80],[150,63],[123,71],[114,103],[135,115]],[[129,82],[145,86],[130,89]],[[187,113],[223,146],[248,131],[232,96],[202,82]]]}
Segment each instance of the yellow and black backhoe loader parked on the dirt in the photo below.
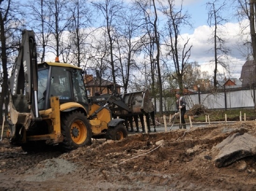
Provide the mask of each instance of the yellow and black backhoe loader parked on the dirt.
{"label": "yellow and black backhoe loader parked on the dirt", "polygon": [[[135,104],[144,112],[143,104],[152,104],[146,92],[140,93],[139,104],[133,97],[125,103],[121,95],[114,94],[89,99],[83,73],[71,64],[38,64],[34,32],[24,30],[8,80],[10,141],[25,151],[45,145],[70,151],[90,144],[91,138],[124,139],[128,135],[124,120],[113,114],[126,111],[123,115],[131,115]],[[147,107],[146,112],[152,109]]]}

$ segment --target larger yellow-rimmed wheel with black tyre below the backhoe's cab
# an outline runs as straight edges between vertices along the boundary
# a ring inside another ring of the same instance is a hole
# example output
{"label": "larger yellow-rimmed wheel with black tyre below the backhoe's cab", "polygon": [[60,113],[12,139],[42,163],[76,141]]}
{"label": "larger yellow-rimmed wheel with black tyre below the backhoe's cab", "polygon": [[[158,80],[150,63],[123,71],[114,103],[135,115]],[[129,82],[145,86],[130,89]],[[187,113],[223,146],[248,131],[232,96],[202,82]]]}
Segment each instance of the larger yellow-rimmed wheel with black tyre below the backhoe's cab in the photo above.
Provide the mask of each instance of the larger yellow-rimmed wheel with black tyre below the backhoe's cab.
{"label": "larger yellow-rimmed wheel with black tyre below the backhoe's cab", "polygon": [[91,143],[91,126],[80,111],[72,111],[61,116],[61,133],[64,138],[61,147],[65,152]]}

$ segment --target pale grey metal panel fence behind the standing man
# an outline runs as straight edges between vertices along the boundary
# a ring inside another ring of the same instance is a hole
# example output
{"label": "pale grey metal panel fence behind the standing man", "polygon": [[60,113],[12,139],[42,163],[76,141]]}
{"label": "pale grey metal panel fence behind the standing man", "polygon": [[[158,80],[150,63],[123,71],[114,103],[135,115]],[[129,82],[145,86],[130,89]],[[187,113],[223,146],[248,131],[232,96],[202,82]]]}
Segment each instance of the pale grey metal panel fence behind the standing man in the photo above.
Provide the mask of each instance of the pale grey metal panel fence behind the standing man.
{"label": "pale grey metal panel fence behind the standing man", "polygon": [[[190,92],[183,97],[186,99],[186,109],[191,109],[195,104],[202,104],[203,107],[212,110],[249,109],[256,108],[255,86],[224,86],[217,89],[199,89]],[[159,113],[159,97],[152,99],[155,102],[156,113]],[[170,113],[176,110],[176,97],[169,95],[163,97],[163,113]]]}

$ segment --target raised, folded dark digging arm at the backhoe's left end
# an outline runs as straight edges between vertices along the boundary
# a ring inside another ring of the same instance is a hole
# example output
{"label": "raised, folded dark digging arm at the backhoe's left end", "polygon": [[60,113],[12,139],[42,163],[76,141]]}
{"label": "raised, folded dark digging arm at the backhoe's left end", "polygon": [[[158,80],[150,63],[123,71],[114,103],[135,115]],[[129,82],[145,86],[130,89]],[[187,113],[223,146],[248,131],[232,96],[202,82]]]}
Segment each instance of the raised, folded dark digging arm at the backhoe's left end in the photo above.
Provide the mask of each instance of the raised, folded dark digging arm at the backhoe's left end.
{"label": "raised, folded dark digging arm at the backhoe's left end", "polygon": [[19,113],[30,113],[32,121],[41,121],[38,111],[37,52],[34,31],[24,30],[19,55],[12,76],[8,80],[10,89],[10,118],[17,122]]}

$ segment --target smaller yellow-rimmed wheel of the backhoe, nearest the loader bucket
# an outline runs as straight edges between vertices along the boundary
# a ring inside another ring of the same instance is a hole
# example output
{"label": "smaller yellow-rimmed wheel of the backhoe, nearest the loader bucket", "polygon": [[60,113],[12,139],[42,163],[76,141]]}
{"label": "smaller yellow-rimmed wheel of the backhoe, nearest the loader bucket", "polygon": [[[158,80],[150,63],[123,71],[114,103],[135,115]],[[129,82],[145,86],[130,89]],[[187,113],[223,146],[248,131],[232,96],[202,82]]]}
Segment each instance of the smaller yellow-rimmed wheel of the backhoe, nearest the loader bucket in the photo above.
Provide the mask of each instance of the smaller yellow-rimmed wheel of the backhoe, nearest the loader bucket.
{"label": "smaller yellow-rimmed wheel of the backhoe, nearest the loader bucket", "polygon": [[128,132],[122,123],[116,127],[108,128],[106,139],[107,140],[123,140],[128,135]]}

